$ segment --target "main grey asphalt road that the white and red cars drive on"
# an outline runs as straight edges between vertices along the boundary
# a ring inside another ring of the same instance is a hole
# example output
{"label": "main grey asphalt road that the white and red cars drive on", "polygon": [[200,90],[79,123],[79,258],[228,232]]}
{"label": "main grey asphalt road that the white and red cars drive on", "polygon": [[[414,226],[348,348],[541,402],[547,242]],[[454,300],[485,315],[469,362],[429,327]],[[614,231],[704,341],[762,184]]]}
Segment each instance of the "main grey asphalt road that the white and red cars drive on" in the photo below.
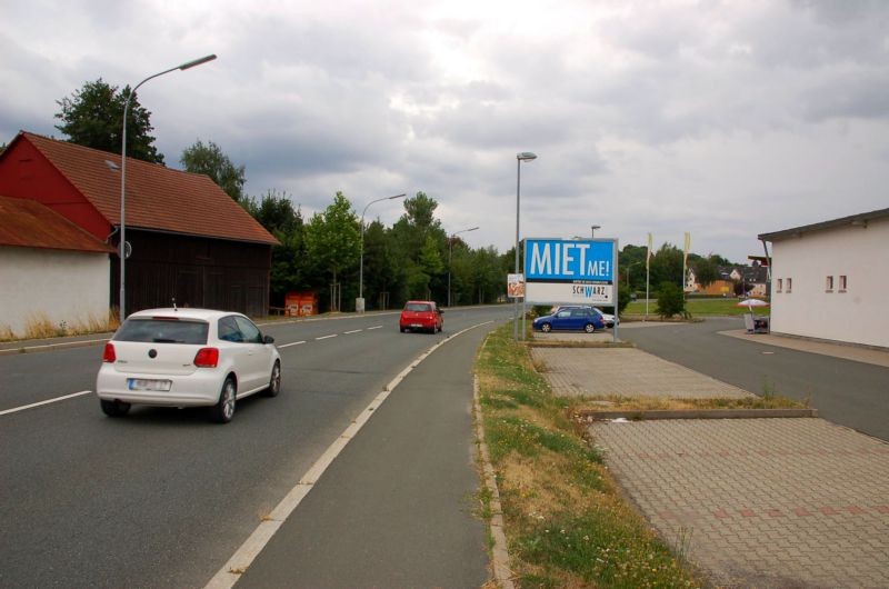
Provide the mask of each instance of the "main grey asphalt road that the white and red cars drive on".
{"label": "main grey asphalt road that the white and red cars drive on", "polygon": [[[510,313],[451,310],[444,335]],[[239,402],[227,426],[197,409],[134,407],[109,419],[93,395],[0,415],[0,587],[202,587],[381,388],[442,338],[401,335],[397,320],[264,328],[281,348],[282,392]],[[0,357],[0,412],[91,390],[100,358],[99,346]]]}

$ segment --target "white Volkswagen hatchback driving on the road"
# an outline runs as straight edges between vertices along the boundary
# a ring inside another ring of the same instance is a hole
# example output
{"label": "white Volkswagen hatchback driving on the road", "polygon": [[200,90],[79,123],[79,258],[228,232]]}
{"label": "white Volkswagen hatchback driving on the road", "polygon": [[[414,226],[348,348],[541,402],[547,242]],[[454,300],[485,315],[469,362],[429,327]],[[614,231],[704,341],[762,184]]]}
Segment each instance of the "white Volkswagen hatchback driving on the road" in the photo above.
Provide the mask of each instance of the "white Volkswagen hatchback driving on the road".
{"label": "white Volkswagen hatchback driving on the road", "polygon": [[281,357],[240,313],[149,309],[132,313],[104,346],[96,392],[109,417],[132,405],[210,408],[220,423],[249,395],[281,390]]}

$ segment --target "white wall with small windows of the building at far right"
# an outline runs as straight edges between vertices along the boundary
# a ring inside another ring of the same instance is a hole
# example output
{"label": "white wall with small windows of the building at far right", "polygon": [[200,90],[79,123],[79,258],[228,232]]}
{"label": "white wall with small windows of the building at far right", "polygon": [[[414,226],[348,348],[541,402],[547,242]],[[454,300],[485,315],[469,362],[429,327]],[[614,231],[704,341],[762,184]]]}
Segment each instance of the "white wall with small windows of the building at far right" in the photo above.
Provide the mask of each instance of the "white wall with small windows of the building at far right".
{"label": "white wall with small windows of the building at far right", "polygon": [[[826,292],[828,276],[832,292]],[[889,219],[776,241],[771,286],[772,331],[889,348]]]}

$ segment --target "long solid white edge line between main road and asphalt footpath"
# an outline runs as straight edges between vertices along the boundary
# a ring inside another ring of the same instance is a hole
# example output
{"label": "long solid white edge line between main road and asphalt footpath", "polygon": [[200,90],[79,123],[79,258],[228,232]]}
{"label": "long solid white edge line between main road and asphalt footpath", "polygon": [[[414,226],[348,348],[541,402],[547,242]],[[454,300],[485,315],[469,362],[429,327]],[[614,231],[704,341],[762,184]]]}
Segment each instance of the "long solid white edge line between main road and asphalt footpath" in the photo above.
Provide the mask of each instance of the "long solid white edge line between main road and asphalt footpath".
{"label": "long solid white edge line between main road and asphalt footpath", "polygon": [[[383,387],[382,391],[370,401],[370,405],[364,408],[361,413],[352,421],[348,428],[340,433],[339,438],[337,438],[333,443],[331,443],[324,453],[314,461],[314,463],[307,470],[302,477],[300,477],[299,482],[290,489],[290,491],[281,499],[281,502],[269,513],[267,517],[263,518],[262,522],[257,526],[250,537],[241,545],[241,547],[231,556],[228,562],[226,562],[221,569],[213,575],[213,578],[204,586],[204,589],[231,589],[234,587],[234,583],[238,582],[241,575],[243,575],[250,565],[253,563],[253,560],[259,556],[266,545],[271,541],[272,536],[278,529],[283,526],[287,518],[290,517],[291,513],[297,509],[299,503],[309,495],[309,491],[312,490],[314,483],[318,479],[321,478],[324,470],[333,462],[333,460],[339,456],[339,453],[346,448],[346,445],[354,438],[354,436],[361,430],[362,427],[368,422],[368,420],[373,416],[377,409],[386,401],[398,385],[404,380],[404,378],[423,360],[426,360],[432,352],[438,350],[444,343],[450,341],[451,339],[466,333],[472,329],[476,329],[481,326],[487,326],[489,323],[493,323],[493,321],[485,321],[483,323],[478,323],[472,327],[468,327],[462,331],[458,331],[457,333],[450,335],[447,338],[442,339],[423,353],[417,357],[417,359],[411,362],[411,365],[402,370],[401,372],[396,376],[386,387]],[[382,326],[381,326],[382,327]]]}

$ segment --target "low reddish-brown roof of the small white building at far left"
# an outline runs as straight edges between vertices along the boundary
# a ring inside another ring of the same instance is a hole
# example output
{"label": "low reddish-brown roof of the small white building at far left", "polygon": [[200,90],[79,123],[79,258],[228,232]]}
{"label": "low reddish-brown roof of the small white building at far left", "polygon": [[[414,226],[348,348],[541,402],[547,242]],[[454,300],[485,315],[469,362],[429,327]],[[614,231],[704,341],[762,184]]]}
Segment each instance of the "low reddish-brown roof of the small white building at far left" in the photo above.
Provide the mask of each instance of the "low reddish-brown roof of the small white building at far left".
{"label": "low reddish-brown roof of the small white building at far left", "polygon": [[0,246],[113,252],[114,249],[49,207],[30,199],[0,197]]}

